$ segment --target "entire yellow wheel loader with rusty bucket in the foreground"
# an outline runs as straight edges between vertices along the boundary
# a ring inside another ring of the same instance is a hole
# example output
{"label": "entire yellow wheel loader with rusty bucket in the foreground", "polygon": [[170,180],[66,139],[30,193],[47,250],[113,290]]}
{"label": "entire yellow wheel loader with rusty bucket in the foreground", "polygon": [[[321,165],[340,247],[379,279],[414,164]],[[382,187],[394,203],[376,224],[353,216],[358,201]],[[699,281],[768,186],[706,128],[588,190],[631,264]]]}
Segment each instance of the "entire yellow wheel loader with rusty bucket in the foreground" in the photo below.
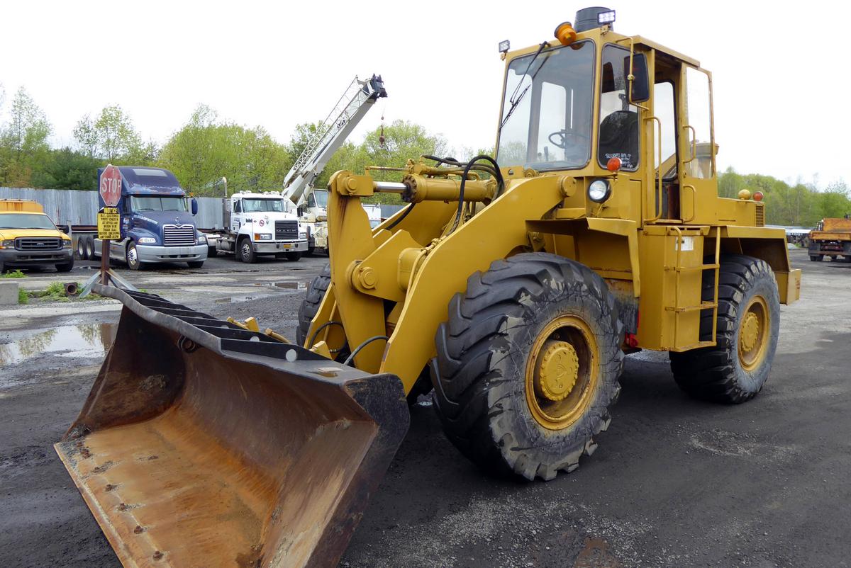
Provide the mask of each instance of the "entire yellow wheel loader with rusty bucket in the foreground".
{"label": "entire yellow wheel loader with rusty bucket in the foreground", "polygon": [[[555,36],[500,45],[493,157],[334,173],[296,343],[95,289],[117,338],[56,449],[125,565],[335,565],[415,392],[485,472],[551,480],[629,435],[629,353],[668,352],[702,400],[762,389],[801,272],[762,202],[718,196],[710,72],[608,9]],[[380,192],[408,206],[371,228]]]}

